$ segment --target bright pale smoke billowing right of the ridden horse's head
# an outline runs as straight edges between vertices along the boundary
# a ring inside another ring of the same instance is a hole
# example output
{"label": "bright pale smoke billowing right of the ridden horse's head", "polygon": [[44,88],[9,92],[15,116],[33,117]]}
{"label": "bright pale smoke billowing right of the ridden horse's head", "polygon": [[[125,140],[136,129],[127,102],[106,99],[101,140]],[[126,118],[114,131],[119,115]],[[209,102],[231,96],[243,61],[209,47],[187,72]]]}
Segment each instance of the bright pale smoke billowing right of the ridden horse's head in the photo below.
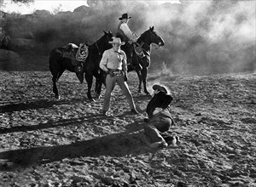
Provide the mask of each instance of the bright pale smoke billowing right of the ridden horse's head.
{"label": "bright pale smoke billowing right of the ridden horse's head", "polygon": [[153,54],[167,62],[172,72],[255,70],[254,1],[165,4],[148,11],[147,22],[154,22],[166,40],[162,53]]}

